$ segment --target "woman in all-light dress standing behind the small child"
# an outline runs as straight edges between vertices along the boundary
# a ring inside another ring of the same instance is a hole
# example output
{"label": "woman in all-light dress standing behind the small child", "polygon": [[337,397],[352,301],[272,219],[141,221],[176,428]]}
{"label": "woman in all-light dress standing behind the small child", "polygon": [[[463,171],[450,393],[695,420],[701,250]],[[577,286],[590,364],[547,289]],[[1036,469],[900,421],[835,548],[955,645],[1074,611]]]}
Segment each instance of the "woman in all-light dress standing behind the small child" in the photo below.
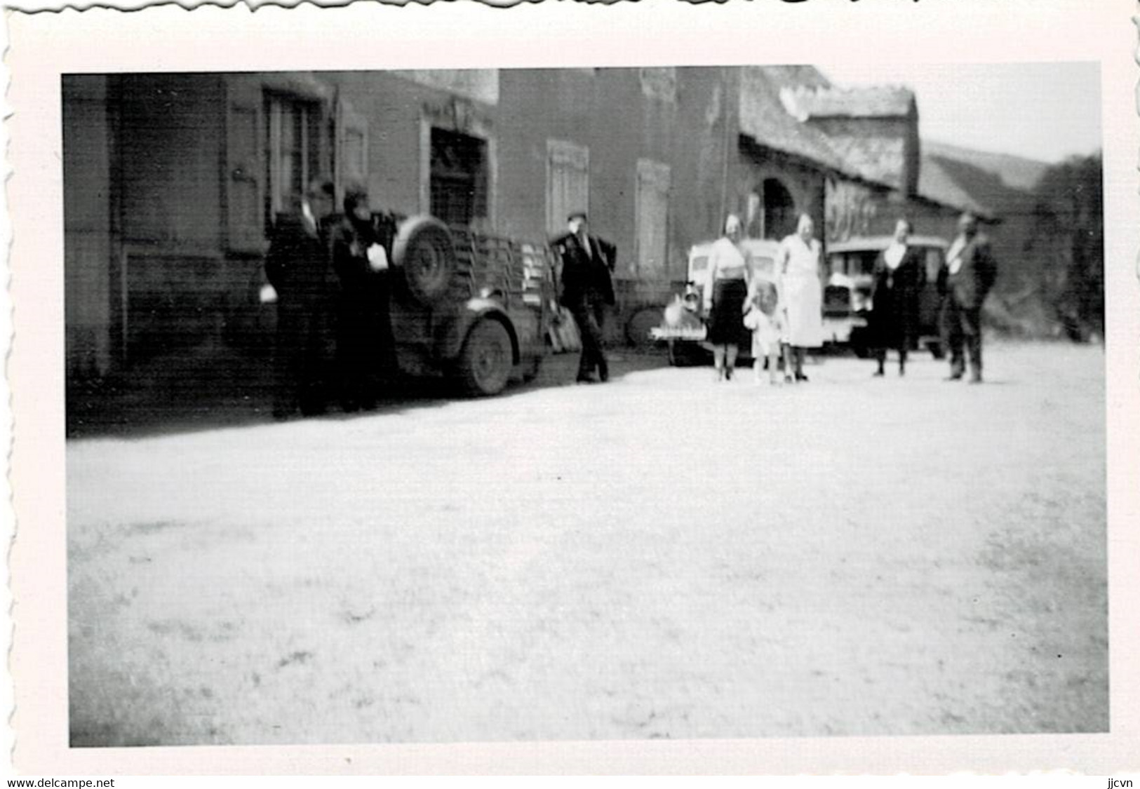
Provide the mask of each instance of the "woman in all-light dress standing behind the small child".
{"label": "woman in all-light dress standing behind the small child", "polygon": [[804,356],[823,344],[823,286],[820,283],[822,249],[813,236],[815,222],[800,214],[796,233],[780,242],[776,268],[784,304],[784,342],[791,349],[792,369],[785,381],[807,381]]}

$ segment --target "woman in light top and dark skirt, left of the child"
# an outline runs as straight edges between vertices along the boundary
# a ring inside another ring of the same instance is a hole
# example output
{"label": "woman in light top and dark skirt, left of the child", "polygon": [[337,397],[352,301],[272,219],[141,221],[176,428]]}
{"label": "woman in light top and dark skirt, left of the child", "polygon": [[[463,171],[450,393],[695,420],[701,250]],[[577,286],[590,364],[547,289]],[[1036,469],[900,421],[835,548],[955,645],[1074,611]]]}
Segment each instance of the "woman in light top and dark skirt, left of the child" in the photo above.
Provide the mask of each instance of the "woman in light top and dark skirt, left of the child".
{"label": "woman in light top and dark skirt, left of the child", "polygon": [[712,345],[717,381],[732,379],[740,352],[749,274],[740,237],[740,217],[730,213],[724,221],[724,236],[712,244],[709,253],[705,310],[709,316],[708,341]]}

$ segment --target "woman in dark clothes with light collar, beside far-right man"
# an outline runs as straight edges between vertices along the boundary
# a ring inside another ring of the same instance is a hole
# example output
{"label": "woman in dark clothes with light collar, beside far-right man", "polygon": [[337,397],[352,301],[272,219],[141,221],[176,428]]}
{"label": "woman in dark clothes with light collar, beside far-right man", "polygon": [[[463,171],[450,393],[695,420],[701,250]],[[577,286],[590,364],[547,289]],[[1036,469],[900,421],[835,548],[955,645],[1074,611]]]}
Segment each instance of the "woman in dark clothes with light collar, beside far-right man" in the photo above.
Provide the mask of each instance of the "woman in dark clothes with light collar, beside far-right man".
{"label": "woman in dark clothes with light collar, beside far-right man", "polygon": [[918,247],[907,245],[911,223],[899,219],[890,245],[874,265],[871,292],[871,339],[879,368],[883,375],[887,349],[898,352],[898,374],[906,374],[906,352],[918,340],[919,298],[926,284],[926,265]]}

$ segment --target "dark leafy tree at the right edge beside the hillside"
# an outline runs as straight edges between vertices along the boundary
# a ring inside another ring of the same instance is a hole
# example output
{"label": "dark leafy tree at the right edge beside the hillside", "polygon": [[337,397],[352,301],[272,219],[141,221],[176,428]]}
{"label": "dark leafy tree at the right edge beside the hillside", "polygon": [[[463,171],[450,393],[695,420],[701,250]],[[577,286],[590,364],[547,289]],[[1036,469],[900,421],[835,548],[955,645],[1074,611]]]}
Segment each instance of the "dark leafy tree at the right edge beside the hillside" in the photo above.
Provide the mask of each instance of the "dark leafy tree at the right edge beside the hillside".
{"label": "dark leafy tree at the right edge beside the hillside", "polygon": [[1101,155],[1051,166],[1037,182],[1029,251],[1042,261],[1041,291],[1067,336],[1105,332]]}

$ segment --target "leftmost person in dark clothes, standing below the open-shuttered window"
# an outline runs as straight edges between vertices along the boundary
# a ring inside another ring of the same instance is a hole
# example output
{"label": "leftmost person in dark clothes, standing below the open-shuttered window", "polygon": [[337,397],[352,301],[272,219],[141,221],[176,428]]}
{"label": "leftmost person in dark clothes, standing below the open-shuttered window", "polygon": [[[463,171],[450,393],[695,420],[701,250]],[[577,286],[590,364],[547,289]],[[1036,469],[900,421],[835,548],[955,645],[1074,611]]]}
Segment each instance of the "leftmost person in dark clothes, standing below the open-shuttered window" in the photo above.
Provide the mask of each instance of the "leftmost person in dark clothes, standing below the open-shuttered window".
{"label": "leftmost person in dark clothes, standing below the open-shuttered window", "polygon": [[298,408],[324,413],[332,345],[335,283],[329,268],[328,227],[333,185],[314,181],[275,218],[266,255],[266,277],[277,293],[274,351],[274,418]]}

